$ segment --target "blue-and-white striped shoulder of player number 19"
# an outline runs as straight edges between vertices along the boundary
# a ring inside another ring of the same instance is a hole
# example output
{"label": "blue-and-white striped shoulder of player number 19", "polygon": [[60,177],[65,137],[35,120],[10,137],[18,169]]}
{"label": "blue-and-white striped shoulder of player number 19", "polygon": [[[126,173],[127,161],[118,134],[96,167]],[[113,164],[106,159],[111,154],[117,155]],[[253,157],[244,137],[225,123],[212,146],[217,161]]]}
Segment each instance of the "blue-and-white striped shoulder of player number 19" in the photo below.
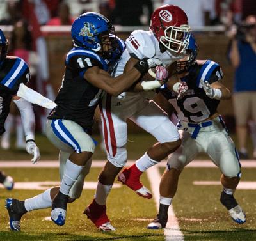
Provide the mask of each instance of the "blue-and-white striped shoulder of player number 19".
{"label": "blue-and-white striped shoulder of player number 19", "polygon": [[214,82],[214,81],[210,81],[210,79],[212,79],[212,75],[216,76],[215,81],[222,79],[223,73],[218,63],[211,61],[209,59],[204,63],[202,62],[199,62],[199,63],[201,63],[202,67],[196,78],[196,86],[198,86],[199,88],[202,88],[200,84],[200,79],[202,79],[203,81],[208,81],[210,83]]}

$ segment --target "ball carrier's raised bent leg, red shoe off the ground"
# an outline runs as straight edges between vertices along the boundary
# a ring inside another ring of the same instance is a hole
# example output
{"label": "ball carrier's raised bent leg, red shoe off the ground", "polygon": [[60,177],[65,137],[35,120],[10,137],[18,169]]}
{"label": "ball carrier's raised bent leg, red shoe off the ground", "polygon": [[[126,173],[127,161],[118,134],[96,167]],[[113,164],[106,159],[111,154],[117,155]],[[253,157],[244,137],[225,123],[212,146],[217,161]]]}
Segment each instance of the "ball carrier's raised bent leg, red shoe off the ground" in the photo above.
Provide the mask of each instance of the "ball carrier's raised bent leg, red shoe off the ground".
{"label": "ball carrier's raised bent leg, red shoe off the ground", "polygon": [[140,182],[141,174],[177,150],[181,141],[175,125],[154,102],[143,100],[141,105],[143,107],[140,107],[140,111],[134,114],[131,120],[156,137],[159,142],[150,147],[135,164],[124,169],[118,176],[118,180],[143,198],[152,198],[152,194]]}

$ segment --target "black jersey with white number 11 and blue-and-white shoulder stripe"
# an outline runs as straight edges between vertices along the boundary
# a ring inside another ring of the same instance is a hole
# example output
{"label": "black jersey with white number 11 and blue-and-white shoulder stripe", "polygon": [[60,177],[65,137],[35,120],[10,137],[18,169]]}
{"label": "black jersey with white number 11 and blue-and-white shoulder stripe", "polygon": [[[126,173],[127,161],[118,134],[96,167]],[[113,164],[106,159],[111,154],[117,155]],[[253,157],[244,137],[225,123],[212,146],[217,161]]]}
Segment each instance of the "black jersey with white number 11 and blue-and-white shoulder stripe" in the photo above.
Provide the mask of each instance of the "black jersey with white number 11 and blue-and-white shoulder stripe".
{"label": "black jersey with white number 11 and blue-and-white shoulder stripe", "polygon": [[57,107],[49,115],[49,119],[72,120],[84,129],[89,131],[92,129],[93,116],[102,95],[102,89],[86,81],[84,73],[93,66],[112,72],[125,49],[123,43],[118,39],[118,51],[116,51],[118,54],[111,54],[106,59],[97,52],[81,47],[74,47],[68,52],[65,75],[55,100]]}

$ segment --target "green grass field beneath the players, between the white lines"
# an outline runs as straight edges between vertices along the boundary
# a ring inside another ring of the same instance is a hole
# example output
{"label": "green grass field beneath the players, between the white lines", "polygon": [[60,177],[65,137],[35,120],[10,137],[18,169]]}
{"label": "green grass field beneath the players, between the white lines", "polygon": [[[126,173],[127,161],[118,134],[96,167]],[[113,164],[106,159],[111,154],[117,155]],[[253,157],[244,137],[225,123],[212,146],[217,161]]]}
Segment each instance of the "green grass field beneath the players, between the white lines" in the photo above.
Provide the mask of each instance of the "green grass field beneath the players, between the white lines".
{"label": "green grass field beneath the players, between the white lines", "polygon": [[[132,135],[129,138],[131,140],[128,143],[129,159],[137,159],[150,144],[154,143],[152,137],[144,134]],[[45,137],[37,136],[37,139],[42,160],[56,160],[58,151],[52,148]],[[104,160],[104,153],[99,149],[94,159]],[[29,160],[26,152],[11,149],[1,150],[0,153],[1,160]],[[3,170],[13,176],[15,182],[58,181],[57,168],[8,167]],[[159,168],[159,171],[163,172],[163,170],[163,167]],[[92,168],[86,181],[96,182],[99,172],[100,168]],[[237,190],[236,192],[237,201],[247,215],[247,222],[239,225],[230,219],[227,210],[219,201],[220,185],[193,185],[194,181],[218,181],[219,179],[220,171],[216,168],[186,168],[180,176],[179,189],[173,199],[173,210],[184,240],[256,240],[255,190]],[[242,181],[256,181],[255,179],[255,168],[243,169]],[[143,175],[142,181],[150,187],[146,174]],[[5,199],[8,197],[26,199],[40,192],[42,191],[0,189],[0,240],[164,240],[163,230],[147,229],[148,222],[157,212],[154,199],[140,198],[127,187],[111,190],[108,198],[108,215],[113,226],[116,227],[116,232],[101,233],[83,215],[84,208],[92,201],[95,192],[92,189],[84,190],[80,199],[68,205],[65,226],[59,227],[49,221],[51,210],[47,209],[25,214],[21,222],[22,231],[10,231],[8,213],[4,208]]]}

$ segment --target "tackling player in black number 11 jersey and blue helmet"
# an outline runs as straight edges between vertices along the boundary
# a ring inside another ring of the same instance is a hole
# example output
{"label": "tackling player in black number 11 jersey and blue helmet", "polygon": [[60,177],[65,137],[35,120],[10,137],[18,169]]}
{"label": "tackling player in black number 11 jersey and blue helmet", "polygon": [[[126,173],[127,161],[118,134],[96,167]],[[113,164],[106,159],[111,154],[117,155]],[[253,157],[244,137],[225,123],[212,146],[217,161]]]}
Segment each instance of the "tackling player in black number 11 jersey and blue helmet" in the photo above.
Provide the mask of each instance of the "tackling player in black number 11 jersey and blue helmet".
{"label": "tackling player in black number 11 jersey and blue helmet", "polygon": [[72,24],[74,48],[67,54],[65,75],[55,100],[57,107],[49,114],[46,126],[47,137],[60,149],[61,185],[25,201],[6,199],[12,230],[20,230],[20,219],[26,212],[50,206],[52,221],[65,224],[67,203],[81,195],[91,166],[95,149],[91,137],[93,116],[103,91],[119,95],[148,68],[161,63],[153,58],[142,60],[129,72],[111,77],[109,72],[125,49],[125,44],[111,33],[115,33],[111,22],[99,13],[84,13]]}

